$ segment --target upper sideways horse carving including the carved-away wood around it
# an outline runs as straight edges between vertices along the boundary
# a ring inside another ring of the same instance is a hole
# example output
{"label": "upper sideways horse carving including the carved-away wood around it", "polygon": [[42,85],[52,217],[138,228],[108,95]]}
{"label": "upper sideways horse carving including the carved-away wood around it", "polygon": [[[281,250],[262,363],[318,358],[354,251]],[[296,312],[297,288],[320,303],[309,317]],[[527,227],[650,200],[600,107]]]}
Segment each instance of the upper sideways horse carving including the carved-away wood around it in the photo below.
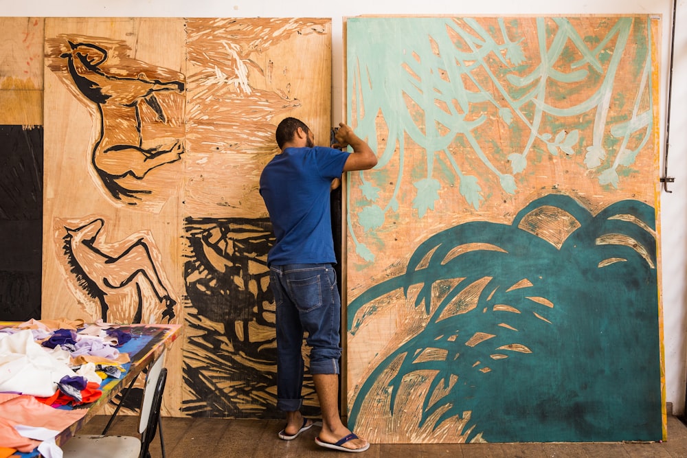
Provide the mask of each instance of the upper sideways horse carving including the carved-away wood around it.
{"label": "upper sideways horse carving including the carved-away wood around it", "polygon": [[159,211],[184,152],[183,73],[133,58],[115,38],[58,34],[46,47],[47,68],[91,114],[93,180],[117,205]]}

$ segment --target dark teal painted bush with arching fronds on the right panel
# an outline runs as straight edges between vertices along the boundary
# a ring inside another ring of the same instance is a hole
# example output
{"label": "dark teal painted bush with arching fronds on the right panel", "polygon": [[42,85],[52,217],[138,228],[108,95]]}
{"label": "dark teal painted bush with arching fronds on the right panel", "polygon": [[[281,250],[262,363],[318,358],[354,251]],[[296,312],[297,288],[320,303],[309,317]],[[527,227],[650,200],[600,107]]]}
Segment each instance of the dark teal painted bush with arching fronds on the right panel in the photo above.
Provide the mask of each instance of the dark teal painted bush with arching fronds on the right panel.
{"label": "dark teal painted bush with arching fronds on the right panel", "polygon": [[[558,249],[520,229],[530,211],[556,207],[574,216],[580,227]],[[615,234],[615,236],[613,236]],[[387,356],[365,380],[350,406],[353,426],[365,394],[392,360],[403,356],[390,381],[392,412],[395,395],[407,374],[438,371],[434,387],[458,382],[436,404],[425,400],[421,424],[447,407],[435,426],[471,411],[471,437],[482,433],[488,442],[615,442],[662,438],[662,392],[657,292],[655,211],[638,201],[620,201],[593,216],[569,196],[550,194],[522,209],[512,225],[467,222],[431,236],[416,249],[405,275],[373,286],[348,306],[353,334],[374,316],[365,304],[398,288],[408,293],[420,284],[415,306],[432,313],[425,329]],[[625,244],[598,244],[608,237]],[[627,242],[630,241],[630,242]],[[469,251],[442,260],[466,243],[493,244],[504,252]],[[433,250],[433,253],[432,253]],[[429,262],[420,264],[431,253]],[[600,266],[611,258],[620,262]],[[419,267],[418,267],[419,266]],[[431,304],[431,288],[442,279],[465,277],[441,304]],[[491,277],[477,307],[442,317],[466,285]],[[507,291],[522,279],[532,286]],[[491,296],[490,296],[491,295]],[[528,297],[543,297],[543,306]],[[508,304],[521,313],[494,311]],[[488,310],[488,312],[485,312]],[[537,318],[533,312],[550,323]],[[442,319],[439,319],[442,317]],[[499,327],[508,323],[517,331]],[[458,332],[458,339],[448,336]],[[476,332],[495,334],[473,347],[464,345]],[[531,353],[495,350],[518,343]],[[414,362],[426,348],[441,348],[442,361]],[[508,354],[493,360],[491,354]],[[460,354],[455,360],[453,356]],[[482,365],[473,367],[475,361]],[[491,371],[477,370],[487,365]]]}

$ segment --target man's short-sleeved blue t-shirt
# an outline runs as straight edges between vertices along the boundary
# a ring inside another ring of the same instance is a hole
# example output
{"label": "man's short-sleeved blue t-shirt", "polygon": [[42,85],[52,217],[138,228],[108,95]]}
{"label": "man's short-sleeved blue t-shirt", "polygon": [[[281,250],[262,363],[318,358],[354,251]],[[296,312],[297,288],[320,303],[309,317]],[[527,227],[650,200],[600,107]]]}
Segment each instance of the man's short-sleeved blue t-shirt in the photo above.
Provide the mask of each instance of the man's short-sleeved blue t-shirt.
{"label": "man's short-sleeved blue t-shirt", "polygon": [[336,262],[330,185],[349,155],[323,146],[286,148],[262,170],[260,195],[277,238],[268,265]]}

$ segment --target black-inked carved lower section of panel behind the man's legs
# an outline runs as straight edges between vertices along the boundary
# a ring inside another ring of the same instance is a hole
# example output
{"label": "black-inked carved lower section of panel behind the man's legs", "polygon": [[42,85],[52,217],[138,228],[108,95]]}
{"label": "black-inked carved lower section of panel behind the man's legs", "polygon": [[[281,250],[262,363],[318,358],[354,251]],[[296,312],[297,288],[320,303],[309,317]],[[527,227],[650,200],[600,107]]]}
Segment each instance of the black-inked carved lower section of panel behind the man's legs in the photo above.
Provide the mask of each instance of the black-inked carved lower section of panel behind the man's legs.
{"label": "black-inked carved lower section of panel behind the man's legs", "polygon": [[[268,218],[187,218],[182,410],[196,417],[280,418]],[[303,412],[317,412],[306,374]]]}

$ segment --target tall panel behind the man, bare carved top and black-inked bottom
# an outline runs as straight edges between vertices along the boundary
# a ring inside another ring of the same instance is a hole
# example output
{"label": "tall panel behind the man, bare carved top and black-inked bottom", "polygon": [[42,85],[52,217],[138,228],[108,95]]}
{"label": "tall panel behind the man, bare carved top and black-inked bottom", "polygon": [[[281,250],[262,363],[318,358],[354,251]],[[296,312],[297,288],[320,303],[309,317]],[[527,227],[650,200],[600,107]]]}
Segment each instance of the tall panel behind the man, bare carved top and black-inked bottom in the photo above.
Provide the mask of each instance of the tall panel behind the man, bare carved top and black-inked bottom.
{"label": "tall panel behind the man, bare carved top and black-inked bottom", "polygon": [[[276,125],[330,125],[330,21],[189,19],[183,214],[187,415],[276,418],[271,226],[258,180]],[[305,411],[316,405],[311,380]]]}

